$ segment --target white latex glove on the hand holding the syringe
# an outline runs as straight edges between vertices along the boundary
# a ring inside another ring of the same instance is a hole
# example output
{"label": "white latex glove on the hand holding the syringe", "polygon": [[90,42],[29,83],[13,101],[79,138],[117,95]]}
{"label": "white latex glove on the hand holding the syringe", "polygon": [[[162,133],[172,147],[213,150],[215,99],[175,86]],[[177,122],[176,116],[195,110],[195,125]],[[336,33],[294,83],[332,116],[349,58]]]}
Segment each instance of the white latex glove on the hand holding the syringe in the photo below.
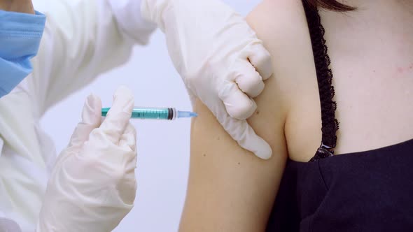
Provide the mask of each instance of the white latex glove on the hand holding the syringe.
{"label": "white latex glove on the hand holding the syringe", "polygon": [[132,92],[120,87],[101,124],[102,103],[89,96],[69,146],[48,182],[37,232],[112,231],[133,207],[137,189]]}

